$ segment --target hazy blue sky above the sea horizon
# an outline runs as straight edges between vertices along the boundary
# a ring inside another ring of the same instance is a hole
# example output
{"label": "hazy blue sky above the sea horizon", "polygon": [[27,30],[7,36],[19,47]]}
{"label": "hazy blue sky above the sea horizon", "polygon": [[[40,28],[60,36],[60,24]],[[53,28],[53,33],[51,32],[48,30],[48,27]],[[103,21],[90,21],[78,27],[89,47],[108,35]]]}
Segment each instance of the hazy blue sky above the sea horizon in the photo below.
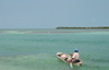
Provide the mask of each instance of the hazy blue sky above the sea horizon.
{"label": "hazy blue sky above the sea horizon", "polygon": [[109,26],[109,0],[0,0],[0,28]]}

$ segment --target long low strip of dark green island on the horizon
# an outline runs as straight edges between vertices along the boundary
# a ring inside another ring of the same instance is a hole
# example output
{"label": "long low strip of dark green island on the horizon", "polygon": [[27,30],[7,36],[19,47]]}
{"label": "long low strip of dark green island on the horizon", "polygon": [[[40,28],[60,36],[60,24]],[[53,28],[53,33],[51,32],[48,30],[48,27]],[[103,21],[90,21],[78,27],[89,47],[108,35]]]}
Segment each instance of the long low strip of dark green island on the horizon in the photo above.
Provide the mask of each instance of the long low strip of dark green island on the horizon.
{"label": "long low strip of dark green island on the horizon", "polygon": [[57,30],[73,30],[73,28],[76,28],[76,30],[87,30],[87,28],[109,28],[109,26],[98,26],[98,27],[56,27]]}

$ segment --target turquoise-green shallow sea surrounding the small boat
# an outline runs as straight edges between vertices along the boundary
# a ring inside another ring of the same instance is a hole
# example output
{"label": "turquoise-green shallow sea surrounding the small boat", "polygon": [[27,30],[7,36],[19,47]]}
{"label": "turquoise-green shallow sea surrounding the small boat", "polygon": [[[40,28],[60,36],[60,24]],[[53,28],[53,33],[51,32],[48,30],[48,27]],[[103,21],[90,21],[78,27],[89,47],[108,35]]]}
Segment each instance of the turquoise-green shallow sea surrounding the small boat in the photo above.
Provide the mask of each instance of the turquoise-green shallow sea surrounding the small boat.
{"label": "turquoise-green shallow sea surrounding the small boat", "polygon": [[[81,67],[56,56],[75,48]],[[0,70],[109,70],[109,30],[0,30]]]}

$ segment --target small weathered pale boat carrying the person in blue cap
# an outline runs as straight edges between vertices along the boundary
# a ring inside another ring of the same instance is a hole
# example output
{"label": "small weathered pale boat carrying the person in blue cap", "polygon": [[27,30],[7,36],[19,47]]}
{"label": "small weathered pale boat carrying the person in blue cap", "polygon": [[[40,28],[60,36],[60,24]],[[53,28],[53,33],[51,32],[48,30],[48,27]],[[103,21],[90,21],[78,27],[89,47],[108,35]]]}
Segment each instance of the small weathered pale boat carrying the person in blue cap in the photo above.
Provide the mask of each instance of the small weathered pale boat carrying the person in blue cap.
{"label": "small weathered pale boat carrying the person in blue cap", "polygon": [[[66,55],[64,52],[57,52],[57,57],[66,62],[66,63],[71,63],[70,60],[71,60],[71,56],[70,55]],[[65,57],[65,58],[64,58]],[[77,60],[76,62],[72,62],[72,65],[74,66],[82,66],[82,60]]]}

